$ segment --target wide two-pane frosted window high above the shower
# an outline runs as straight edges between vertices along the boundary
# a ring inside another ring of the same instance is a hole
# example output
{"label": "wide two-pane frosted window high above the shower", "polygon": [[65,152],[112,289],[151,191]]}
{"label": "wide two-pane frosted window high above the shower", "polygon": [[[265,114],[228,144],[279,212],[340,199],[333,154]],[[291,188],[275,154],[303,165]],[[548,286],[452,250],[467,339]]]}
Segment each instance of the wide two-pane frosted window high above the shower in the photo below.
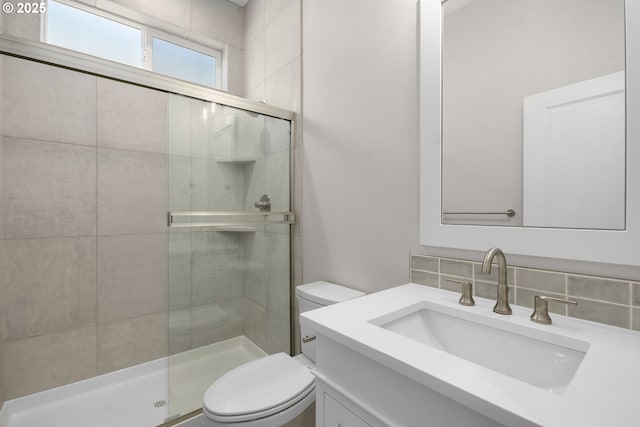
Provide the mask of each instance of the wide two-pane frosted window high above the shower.
{"label": "wide two-pane frosted window high above the shower", "polygon": [[49,0],[43,41],[211,88],[221,88],[220,51],[84,5]]}

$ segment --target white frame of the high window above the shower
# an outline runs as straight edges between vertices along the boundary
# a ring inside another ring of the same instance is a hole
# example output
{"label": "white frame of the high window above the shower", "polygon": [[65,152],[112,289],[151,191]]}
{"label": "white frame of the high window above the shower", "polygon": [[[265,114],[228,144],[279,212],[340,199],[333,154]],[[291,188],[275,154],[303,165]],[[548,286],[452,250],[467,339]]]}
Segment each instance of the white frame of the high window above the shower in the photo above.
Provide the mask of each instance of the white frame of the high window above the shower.
{"label": "white frame of the high window above the shower", "polygon": [[[49,9],[48,4],[51,0],[46,0],[47,1],[47,10]],[[135,28],[137,30],[140,30],[142,37],[141,37],[141,41],[140,41],[140,63],[141,66],[140,68],[143,70],[147,70],[147,71],[151,71],[154,72],[152,69],[153,66],[153,49],[152,49],[152,44],[153,44],[153,38],[159,38],[162,40],[165,40],[169,43],[173,43],[176,44],[178,46],[184,47],[186,49],[190,49],[190,50],[194,50],[196,52],[202,53],[204,55],[208,55],[208,56],[212,56],[216,59],[216,69],[215,69],[215,73],[216,73],[216,78],[215,78],[215,87],[213,89],[223,89],[223,80],[222,80],[222,73],[223,73],[223,52],[220,49],[216,49],[212,46],[206,46],[203,45],[201,43],[196,43],[193,42],[191,40],[187,40],[183,37],[179,37],[176,36],[174,34],[168,33],[166,31],[162,31],[158,28],[154,28],[151,27],[149,25],[145,25],[145,24],[141,24],[139,22],[133,21],[131,19],[127,19],[127,18],[123,18],[119,15],[113,14],[113,13],[109,13],[107,11],[101,10],[101,9],[97,9],[95,7],[89,6],[85,3],[79,3],[76,2],[74,0],[54,0],[58,3],[64,4],[66,6],[69,7],[73,7],[79,10],[82,10],[84,12],[87,13],[91,13],[93,15],[99,16],[101,18],[105,18],[105,19],[109,19],[112,21],[115,21],[119,24],[122,25],[126,25],[132,28]],[[47,17],[48,14],[47,12],[41,14],[41,20],[40,20],[40,41],[42,43],[46,43],[49,44],[49,42],[47,41]],[[82,52],[80,52],[82,53]],[[105,60],[108,60],[107,58],[102,58]],[[112,61],[115,62],[115,61]],[[122,64],[119,62],[115,62],[121,66],[130,66],[130,65],[126,65],[126,64]],[[137,67],[136,67],[137,68]],[[163,76],[166,76],[165,74],[162,73],[157,73]],[[176,80],[181,80],[179,78],[176,77],[172,77],[172,76],[166,76],[168,78],[174,78]],[[187,81],[187,80],[184,80]],[[198,84],[195,82],[191,82],[189,81],[189,83],[193,83],[193,84]]]}

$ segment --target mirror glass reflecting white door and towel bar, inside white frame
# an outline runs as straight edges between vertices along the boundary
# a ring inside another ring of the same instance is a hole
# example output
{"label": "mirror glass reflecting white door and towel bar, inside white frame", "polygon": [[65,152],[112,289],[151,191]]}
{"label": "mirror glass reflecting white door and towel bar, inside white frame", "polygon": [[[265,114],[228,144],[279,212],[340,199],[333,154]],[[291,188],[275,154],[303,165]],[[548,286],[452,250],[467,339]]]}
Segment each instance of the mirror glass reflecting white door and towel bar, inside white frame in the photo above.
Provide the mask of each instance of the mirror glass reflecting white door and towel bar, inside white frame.
{"label": "mirror glass reflecting white door and towel bar, inside white frame", "polygon": [[624,229],[624,0],[442,8],[442,221]]}

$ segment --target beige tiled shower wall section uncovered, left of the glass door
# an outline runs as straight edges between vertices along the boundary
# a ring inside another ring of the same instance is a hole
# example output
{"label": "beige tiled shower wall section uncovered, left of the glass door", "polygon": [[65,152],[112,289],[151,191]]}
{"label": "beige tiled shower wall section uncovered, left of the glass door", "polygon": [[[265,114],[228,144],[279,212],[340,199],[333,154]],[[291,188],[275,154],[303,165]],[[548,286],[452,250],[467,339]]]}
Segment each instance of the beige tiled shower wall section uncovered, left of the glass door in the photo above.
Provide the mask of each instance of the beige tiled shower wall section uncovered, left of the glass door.
{"label": "beige tiled shower wall section uncovered, left of the glass door", "polygon": [[166,351],[166,95],[4,58],[2,383],[11,399]]}

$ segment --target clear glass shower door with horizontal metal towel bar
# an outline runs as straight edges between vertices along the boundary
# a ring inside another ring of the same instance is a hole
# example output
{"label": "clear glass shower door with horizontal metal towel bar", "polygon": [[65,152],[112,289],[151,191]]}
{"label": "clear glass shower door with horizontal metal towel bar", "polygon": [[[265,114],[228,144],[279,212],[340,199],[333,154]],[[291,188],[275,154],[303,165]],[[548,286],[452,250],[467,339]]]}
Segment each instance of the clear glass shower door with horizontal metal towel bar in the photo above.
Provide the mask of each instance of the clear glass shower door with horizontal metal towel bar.
{"label": "clear glass shower door with horizontal metal towel bar", "polygon": [[291,123],[170,96],[168,417],[257,357],[290,353]]}

